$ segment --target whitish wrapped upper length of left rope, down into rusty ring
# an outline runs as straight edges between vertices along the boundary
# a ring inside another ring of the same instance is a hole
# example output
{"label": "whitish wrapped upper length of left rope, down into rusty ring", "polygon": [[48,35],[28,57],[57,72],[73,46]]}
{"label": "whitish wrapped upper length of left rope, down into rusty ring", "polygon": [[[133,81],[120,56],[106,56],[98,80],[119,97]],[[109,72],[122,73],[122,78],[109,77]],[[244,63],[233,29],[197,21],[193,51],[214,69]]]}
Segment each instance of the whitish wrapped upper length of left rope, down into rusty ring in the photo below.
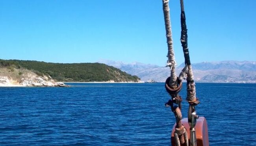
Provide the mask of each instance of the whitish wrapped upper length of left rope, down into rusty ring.
{"label": "whitish wrapped upper length of left rope, down into rusty ring", "polygon": [[166,39],[167,39],[167,46],[168,46],[167,66],[169,66],[171,70],[171,79],[170,79],[169,85],[173,89],[176,89],[177,76],[175,72],[175,58],[174,58],[174,50],[173,50],[173,38],[172,38],[172,30],[171,30],[169,0],[163,0],[163,14],[165,19],[165,31],[166,31]]}

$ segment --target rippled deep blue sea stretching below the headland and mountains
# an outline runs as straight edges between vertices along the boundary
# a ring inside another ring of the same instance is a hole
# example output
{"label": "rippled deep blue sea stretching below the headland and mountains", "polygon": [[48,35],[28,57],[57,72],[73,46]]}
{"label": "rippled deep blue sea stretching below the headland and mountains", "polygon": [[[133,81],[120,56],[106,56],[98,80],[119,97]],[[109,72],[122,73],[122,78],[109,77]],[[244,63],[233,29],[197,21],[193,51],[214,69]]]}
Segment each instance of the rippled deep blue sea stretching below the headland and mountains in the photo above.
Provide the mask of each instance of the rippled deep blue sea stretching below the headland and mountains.
{"label": "rippled deep blue sea stretching below the headland and mountains", "polygon": [[[170,145],[175,118],[164,106],[164,83],[69,85],[0,88],[0,145]],[[256,84],[196,88],[211,146],[256,146]],[[187,106],[183,102],[183,117]]]}

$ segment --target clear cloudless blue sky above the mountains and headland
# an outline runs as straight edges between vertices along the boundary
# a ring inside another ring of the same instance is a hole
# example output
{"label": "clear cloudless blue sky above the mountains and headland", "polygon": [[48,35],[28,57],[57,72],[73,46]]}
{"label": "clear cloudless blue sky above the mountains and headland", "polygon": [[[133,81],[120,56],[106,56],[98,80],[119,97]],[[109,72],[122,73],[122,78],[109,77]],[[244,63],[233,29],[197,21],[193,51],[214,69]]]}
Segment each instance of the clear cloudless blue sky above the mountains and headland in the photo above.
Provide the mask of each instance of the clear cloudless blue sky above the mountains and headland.
{"label": "clear cloudless blue sky above the mountains and headland", "polygon": [[[180,4],[170,0],[176,62]],[[256,0],[184,0],[191,63],[256,61]],[[161,0],[0,0],[0,59],[164,66]]]}

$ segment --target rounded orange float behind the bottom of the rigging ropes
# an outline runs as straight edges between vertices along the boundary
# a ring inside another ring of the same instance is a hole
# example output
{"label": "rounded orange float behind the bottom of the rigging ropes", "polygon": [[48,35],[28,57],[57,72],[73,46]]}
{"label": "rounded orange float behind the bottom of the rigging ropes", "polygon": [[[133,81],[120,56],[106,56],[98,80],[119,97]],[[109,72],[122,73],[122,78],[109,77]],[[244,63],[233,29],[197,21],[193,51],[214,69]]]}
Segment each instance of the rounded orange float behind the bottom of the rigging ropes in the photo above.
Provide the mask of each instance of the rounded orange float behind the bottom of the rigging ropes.
{"label": "rounded orange float behind the bottom of the rigging ropes", "polygon": [[[187,122],[187,118],[183,118],[181,120],[182,125],[187,129],[187,137],[189,139],[190,137],[190,130],[189,130],[189,124]],[[171,143],[172,146],[175,146],[175,141],[174,141],[174,131],[175,131],[175,126],[173,126],[172,134],[171,134]],[[209,138],[208,138],[208,127],[207,127],[207,122],[204,117],[199,117],[197,119],[197,124],[195,126],[196,129],[196,136],[197,136],[197,146],[209,146]]]}

